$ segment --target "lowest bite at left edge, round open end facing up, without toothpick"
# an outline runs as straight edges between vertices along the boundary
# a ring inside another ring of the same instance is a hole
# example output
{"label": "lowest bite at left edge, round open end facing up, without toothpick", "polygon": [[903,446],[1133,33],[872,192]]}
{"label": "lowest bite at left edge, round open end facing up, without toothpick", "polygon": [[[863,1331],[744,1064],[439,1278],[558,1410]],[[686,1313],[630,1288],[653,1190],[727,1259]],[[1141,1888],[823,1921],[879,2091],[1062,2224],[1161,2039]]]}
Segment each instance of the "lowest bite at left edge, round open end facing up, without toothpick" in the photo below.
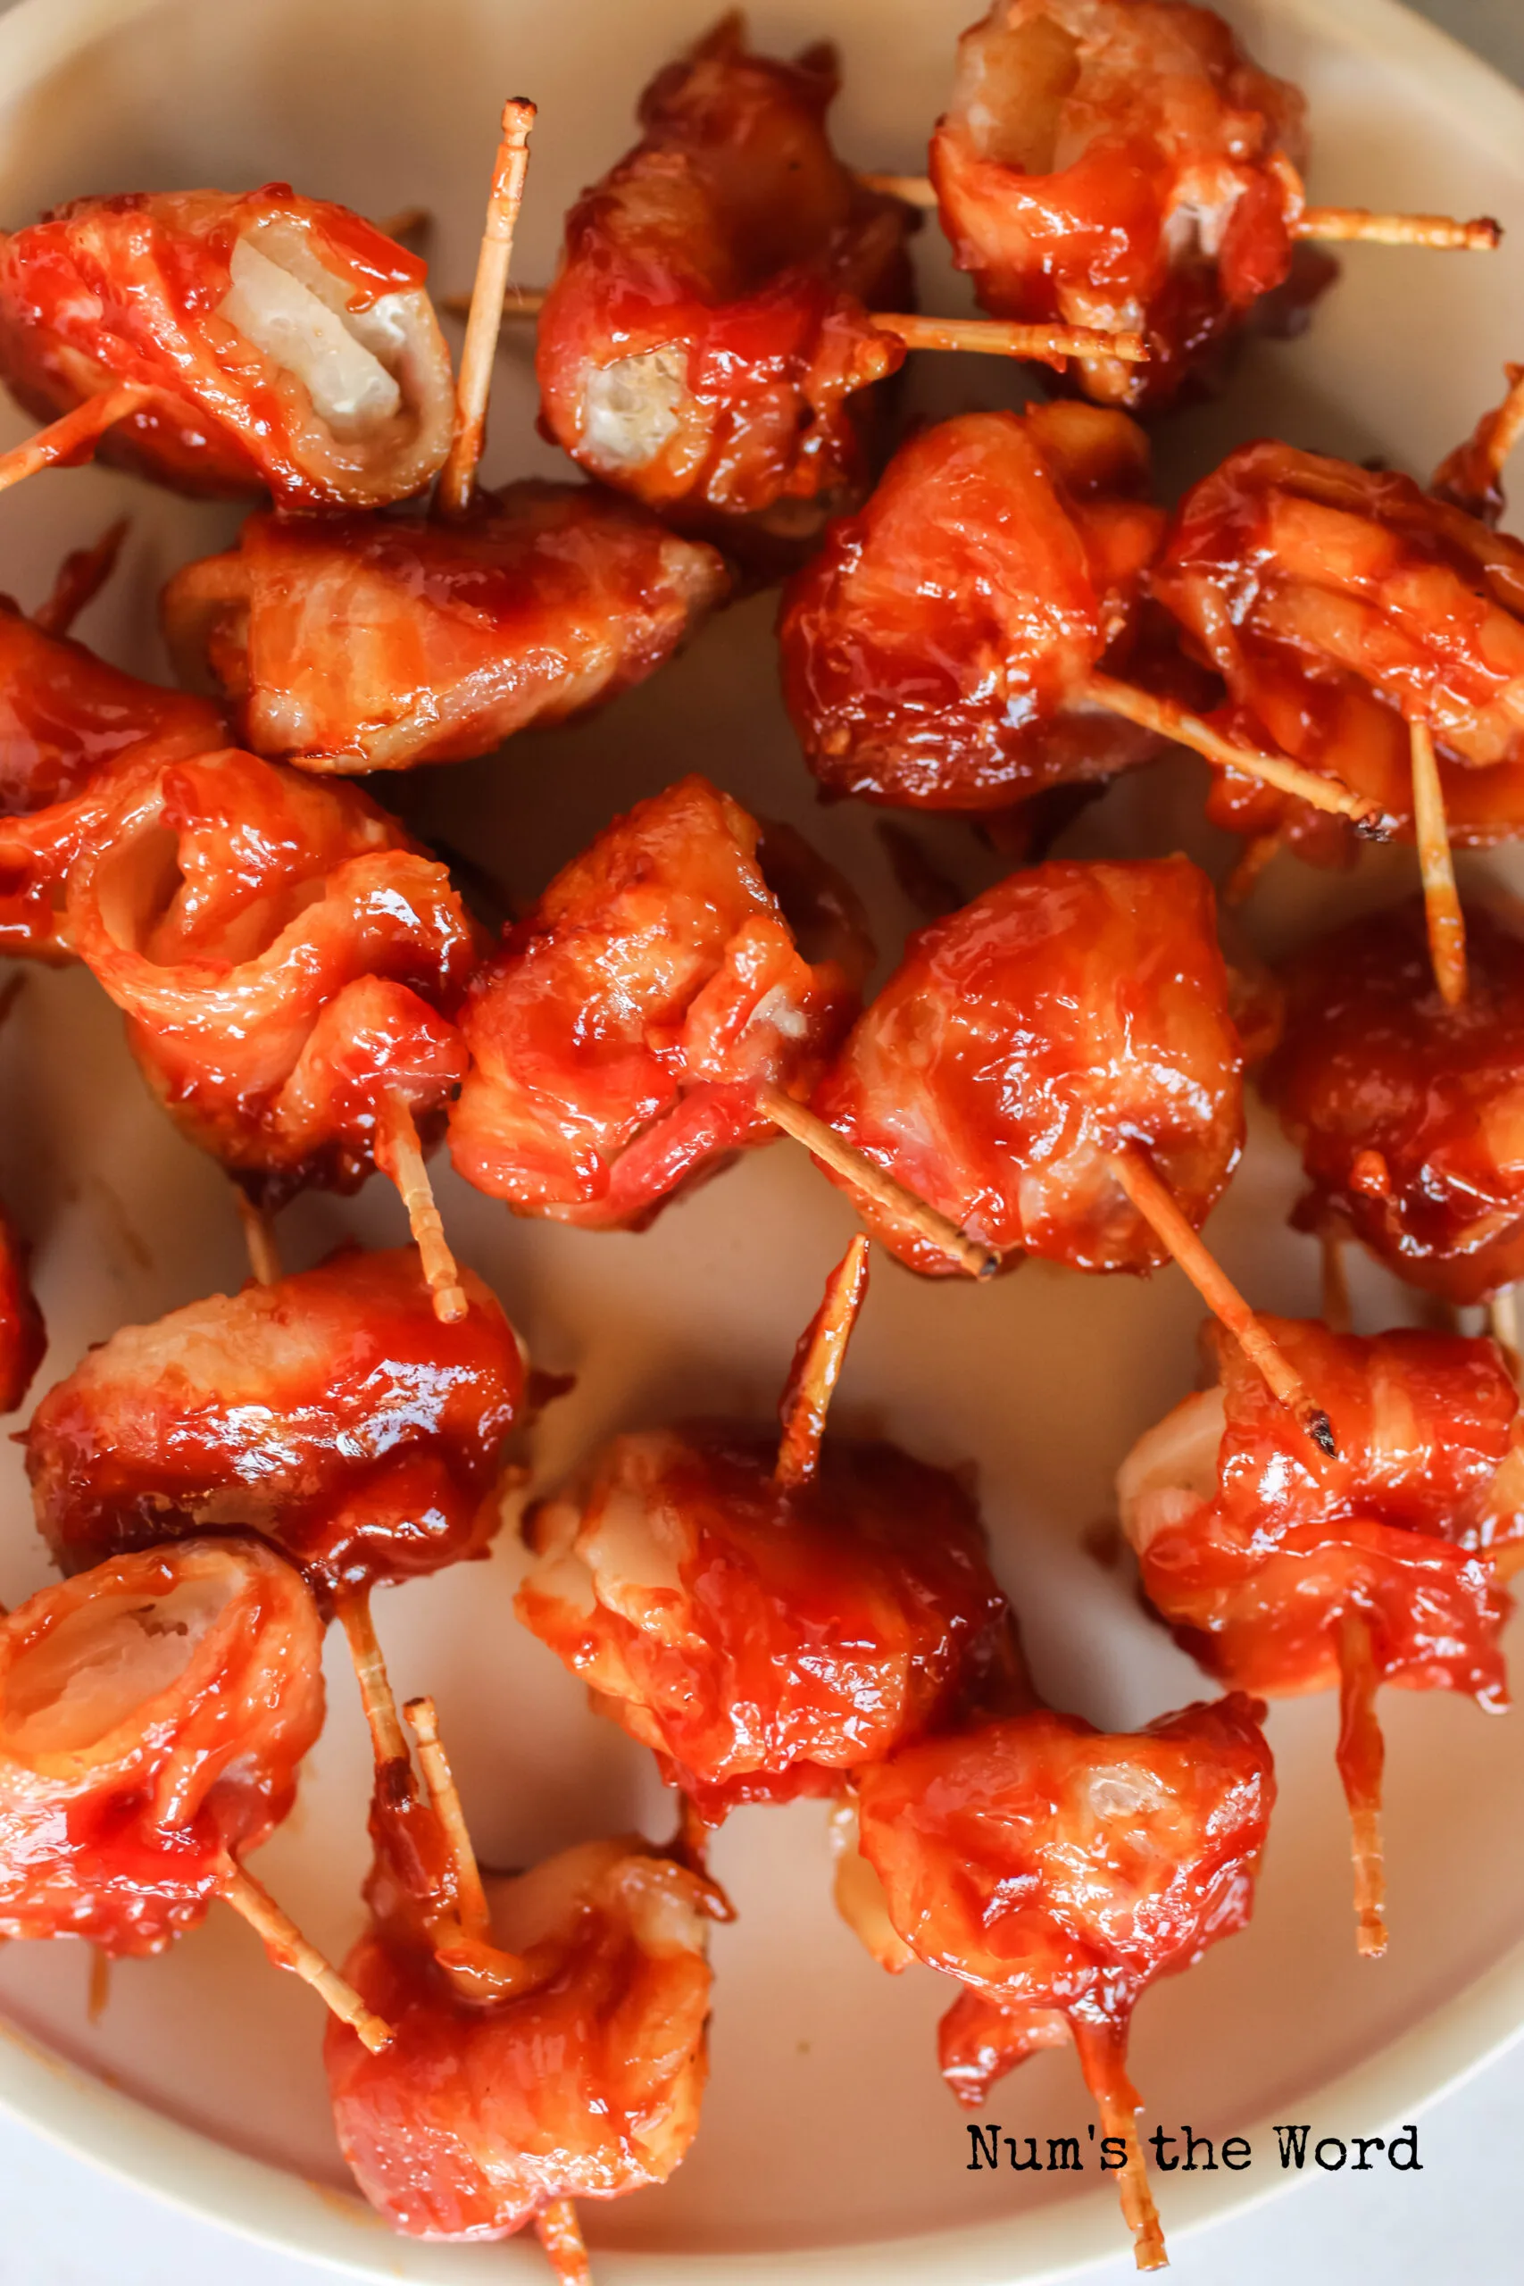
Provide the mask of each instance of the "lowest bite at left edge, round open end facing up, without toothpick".
{"label": "lowest bite at left edge, round open end facing up, without toothpick", "polygon": [[0,1623],[0,1934],[160,1952],[286,1817],[322,1621],[258,1541],[181,1541]]}

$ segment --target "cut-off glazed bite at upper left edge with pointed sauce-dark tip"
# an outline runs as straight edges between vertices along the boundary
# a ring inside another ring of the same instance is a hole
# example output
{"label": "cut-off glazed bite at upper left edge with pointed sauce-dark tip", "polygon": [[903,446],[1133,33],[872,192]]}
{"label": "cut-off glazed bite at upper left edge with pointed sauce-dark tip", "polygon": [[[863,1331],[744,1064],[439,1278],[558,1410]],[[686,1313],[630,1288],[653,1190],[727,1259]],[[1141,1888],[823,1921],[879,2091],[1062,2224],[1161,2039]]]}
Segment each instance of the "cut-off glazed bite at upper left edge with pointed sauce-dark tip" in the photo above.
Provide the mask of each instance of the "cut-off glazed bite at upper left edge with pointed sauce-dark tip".
{"label": "cut-off glazed bite at upper left edge with pointed sauce-dark tip", "polygon": [[217,706],[110,668],[0,597],[0,951],[69,956],[64,878],[135,750],[222,745]]}

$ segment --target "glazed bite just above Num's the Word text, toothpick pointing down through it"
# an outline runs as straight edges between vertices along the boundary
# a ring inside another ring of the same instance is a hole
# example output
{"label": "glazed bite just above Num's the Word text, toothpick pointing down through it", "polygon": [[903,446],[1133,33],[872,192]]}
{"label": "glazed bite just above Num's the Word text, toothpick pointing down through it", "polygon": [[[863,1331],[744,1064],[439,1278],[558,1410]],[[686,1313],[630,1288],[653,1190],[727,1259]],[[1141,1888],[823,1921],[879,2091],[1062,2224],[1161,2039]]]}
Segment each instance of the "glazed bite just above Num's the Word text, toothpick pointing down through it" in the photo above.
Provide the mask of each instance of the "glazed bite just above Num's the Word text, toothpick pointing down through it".
{"label": "glazed bite just above Num's the Word text, toothpick pointing down through it", "polygon": [[1074,2041],[1140,2270],[1165,2265],[1165,2243],[1129,2028],[1156,1977],[1248,1925],[1275,1804],[1261,1714],[1234,1692],[1106,1735],[1037,1708],[857,1779],[871,1875],[845,1861],[848,1918],[884,1968],[919,1959],[964,1987],[939,2032],[960,2103],[982,2103],[1037,2048]]}

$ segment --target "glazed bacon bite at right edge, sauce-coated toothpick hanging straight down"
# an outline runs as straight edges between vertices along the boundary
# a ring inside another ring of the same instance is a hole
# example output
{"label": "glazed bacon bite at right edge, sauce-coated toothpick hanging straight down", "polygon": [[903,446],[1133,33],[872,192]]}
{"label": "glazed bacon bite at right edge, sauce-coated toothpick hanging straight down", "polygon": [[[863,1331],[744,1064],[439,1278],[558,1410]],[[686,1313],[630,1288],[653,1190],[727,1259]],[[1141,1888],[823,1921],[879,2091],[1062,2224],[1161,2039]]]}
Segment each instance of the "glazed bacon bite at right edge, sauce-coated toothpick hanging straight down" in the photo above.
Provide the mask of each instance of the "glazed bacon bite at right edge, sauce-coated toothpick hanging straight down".
{"label": "glazed bacon bite at right edge, sauce-coated toothpick hanging straight down", "polygon": [[1382,1952],[1380,1682],[1506,1705],[1499,1570],[1524,1548],[1524,1424],[1494,1342],[1341,1335],[1270,1319],[1325,1408],[1339,1458],[1286,1433],[1259,1378],[1206,1328],[1218,1383],[1186,1397],[1117,1477],[1142,1586],[1222,1682],[1339,1685],[1359,1950]]}

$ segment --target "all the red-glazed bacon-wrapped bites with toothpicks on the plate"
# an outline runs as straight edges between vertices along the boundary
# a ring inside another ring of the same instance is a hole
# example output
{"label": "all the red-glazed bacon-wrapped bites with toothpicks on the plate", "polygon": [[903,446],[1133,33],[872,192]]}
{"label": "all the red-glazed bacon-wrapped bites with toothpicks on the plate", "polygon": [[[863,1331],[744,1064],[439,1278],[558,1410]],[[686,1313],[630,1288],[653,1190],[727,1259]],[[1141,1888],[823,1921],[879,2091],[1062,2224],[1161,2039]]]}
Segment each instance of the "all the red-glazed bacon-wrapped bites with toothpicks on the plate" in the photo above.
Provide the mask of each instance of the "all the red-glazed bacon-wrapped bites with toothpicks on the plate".
{"label": "all the red-glazed bacon-wrapped bites with toothpicks on the plate", "polygon": [[[576,2201],[663,2183],[699,2131],[733,1911],[708,1833],[800,1795],[873,1959],[953,1980],[962,2103],[1074,2044],[1158,2268],[1129,2023],[1250,1918],[1266,1696],[1339,1692],[1378,1955],[1375,1692],[1503,1705],[1524,1554],[1524,921],[1462,908],[1451,862],[1524,834],[1524,546],[1497,530],[1524,368],[1428,487],[1261,441],[1168,507],[1138,425],[1305,322],[1321,240],[1497,224],[1309,206],[1298,89],[1186,0],[994,0],[923,178],[843,160],[836,80],[829,46],[779,62],[722,21],[647,87],[544,293],[507,286],[535,119],[507,103],[459,375],[423,261],[283,183],[85,197],[0,240],[0,375],[46,423],[0,489],[98,453],[251,501],[162,592],[183,690],[69,633],[121,528],[32,615],[0,606],[0,951],[82,962],[121,1008],[254,1271],[119,1328],[23,1426],[62,1580],[0,1621],[0,1936],[149,1955],[224,1900],[331,2012],[366,2197],[420,2236],[532,2227],[567,2281]],[[914,311],[923,210],[987,320]],[[542,427],[580,473],[487,491],[505,315],[537,322]],[[903,434],[896,370],[953,350],[1035,361],[1049,398]],[[852,887],[674,757],[494,942],[382,773],[605,704],[775,581],[820,789],[1024,862],[944,898],[864,1004]],[[1049,855],[1056,793],[1179,748],[1245,839],[1232,898],[1375,837],[1414,846],[1412,901],[1270,976],[1229,965],[1186,857]],[[1200,1237],[1250,1065],[1305,1159],[1321,1319],[1257,1314]],[[553,1388],[457,1262],[427,1154],[596,1232],[781,1136],[864,1223],[781,1429],[653,1422],[523,1511],[519,1618],[651,1749],[674,1831],[487,1872],[370,1593],[489,1552],[505,1440]],[[286,1276],[281,1207],[375,1170],[414,1246]],[[964,1477],[829,1429],[871,1239],[925,1278],[1040,1255],[1195,1282],[1209,1385],[1117,1500],[1222,1696],[1120,1737],[1044,1705]],[[1490,1335],[1355,1333],[1346,1241]],[[43,1349],[0,1212],[0,1410]],[[375,1747],[340,1966],[244,1863],[320,1733],[331,1621]]]}

